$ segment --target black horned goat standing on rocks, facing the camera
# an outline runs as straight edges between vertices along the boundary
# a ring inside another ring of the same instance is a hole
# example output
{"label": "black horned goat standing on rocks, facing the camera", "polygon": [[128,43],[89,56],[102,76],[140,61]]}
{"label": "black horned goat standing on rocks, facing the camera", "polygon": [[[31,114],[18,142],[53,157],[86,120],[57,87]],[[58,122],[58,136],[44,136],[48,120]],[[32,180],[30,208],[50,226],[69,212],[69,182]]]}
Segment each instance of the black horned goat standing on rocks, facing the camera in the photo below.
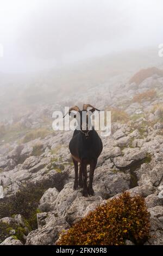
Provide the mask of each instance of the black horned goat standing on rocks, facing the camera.
{"label": "black horned goat standing on rocks, facing the camera", "polygon": [[[90,111],[87,108],[91,107]],[[74,190],[83,187],[83,196],[87,197],[89,194],[93,196],[94,191],[92,187],[93,175],[97,164],[97,159],[102,152],[103,144],[98,133],[95,131],[91,124],[91,113],[97,108],[90,104],[84,104],[83,110],[81,111],[78,106],[71,107],[71,111],[77,111],[74,117],[77,119],[78,128],[74,130],[73,137],[69,144],[70,153],[74,163]],[[86,118],[83,119],[83,116]],[[64,116],[65,117],[65,116]],[[78,179],[78,163],[79,164],[79,179]],[[87,186],[87,165],[90,165],[89,173],[89,185]]]}

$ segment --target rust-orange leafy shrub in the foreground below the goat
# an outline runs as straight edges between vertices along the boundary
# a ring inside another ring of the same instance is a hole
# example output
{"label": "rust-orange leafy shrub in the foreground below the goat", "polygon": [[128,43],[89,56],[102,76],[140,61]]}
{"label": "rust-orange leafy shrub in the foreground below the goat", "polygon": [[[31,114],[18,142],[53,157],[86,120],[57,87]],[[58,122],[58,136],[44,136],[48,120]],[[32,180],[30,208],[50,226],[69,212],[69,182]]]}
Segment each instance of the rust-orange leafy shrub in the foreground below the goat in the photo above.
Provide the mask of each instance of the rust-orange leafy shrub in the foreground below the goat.
{"label": "rust-orange leafy shrub in the foreground below the goat", "polygon": [[136,245],[149,238],[149,213],[145,200],[124,192],[108,200],[62,233],[57,245]]}

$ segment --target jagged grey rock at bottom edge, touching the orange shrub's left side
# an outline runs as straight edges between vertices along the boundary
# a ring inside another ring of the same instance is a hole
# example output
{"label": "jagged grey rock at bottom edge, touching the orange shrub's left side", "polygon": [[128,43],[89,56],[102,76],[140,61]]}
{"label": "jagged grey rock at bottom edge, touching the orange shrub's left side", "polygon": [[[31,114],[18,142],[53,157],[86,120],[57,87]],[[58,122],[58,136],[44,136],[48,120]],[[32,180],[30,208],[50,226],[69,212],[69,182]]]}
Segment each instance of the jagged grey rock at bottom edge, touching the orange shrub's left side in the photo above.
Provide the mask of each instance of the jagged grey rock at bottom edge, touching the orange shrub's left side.
{"label": "jagged grey rock at bottom edge, touching the orange shrub's left side", "polygon": [[26,245],[54,245],[62,230],[70,228],[70,225],[62,217],[51,217],[42,228],[30,232]]}

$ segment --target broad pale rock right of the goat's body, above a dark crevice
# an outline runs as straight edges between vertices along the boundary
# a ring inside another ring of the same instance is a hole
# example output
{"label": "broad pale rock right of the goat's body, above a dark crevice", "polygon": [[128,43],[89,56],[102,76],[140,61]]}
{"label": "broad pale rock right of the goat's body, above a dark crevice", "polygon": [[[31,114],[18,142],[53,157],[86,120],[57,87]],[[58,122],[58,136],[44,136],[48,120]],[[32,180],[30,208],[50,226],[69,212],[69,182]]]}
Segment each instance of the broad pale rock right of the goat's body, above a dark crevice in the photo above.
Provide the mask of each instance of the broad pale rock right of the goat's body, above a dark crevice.
{"label": "broad pale rock right of the goat's body, above a dark crevice", "polygon": [[124,156],[118,156],[114,158],[114,164],[118,168],[129,167],[131,163],[145,159],[145,151],[139,148],[126,148],[123,150]]}

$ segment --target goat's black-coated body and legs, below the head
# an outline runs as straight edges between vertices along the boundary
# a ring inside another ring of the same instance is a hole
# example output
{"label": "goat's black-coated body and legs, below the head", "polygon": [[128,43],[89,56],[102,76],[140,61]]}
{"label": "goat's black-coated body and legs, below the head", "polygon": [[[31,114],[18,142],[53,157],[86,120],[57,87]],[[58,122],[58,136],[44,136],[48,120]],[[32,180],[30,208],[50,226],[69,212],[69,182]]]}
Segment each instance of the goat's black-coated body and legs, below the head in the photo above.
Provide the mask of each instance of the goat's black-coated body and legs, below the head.
{"label": "goat's black-coated body and legs, below the head", "polygon": [[[78,185],[83,187],[83,195],[87,197],[87,194],[93,196],[94,191],[92,188],[93,174],[96,168],[97,159],[103,150],[103,144],[101,138],[95,129],[89,131],[88,136],[80,130],[75,130],[73,137],[69,144],[69,149],[72,155],[75,180],[74,189],[77,189]],[[78,162],[79,167],[79,179],[78,179]],[[89,185],[87,186],[87,164],[90,164]]]}

